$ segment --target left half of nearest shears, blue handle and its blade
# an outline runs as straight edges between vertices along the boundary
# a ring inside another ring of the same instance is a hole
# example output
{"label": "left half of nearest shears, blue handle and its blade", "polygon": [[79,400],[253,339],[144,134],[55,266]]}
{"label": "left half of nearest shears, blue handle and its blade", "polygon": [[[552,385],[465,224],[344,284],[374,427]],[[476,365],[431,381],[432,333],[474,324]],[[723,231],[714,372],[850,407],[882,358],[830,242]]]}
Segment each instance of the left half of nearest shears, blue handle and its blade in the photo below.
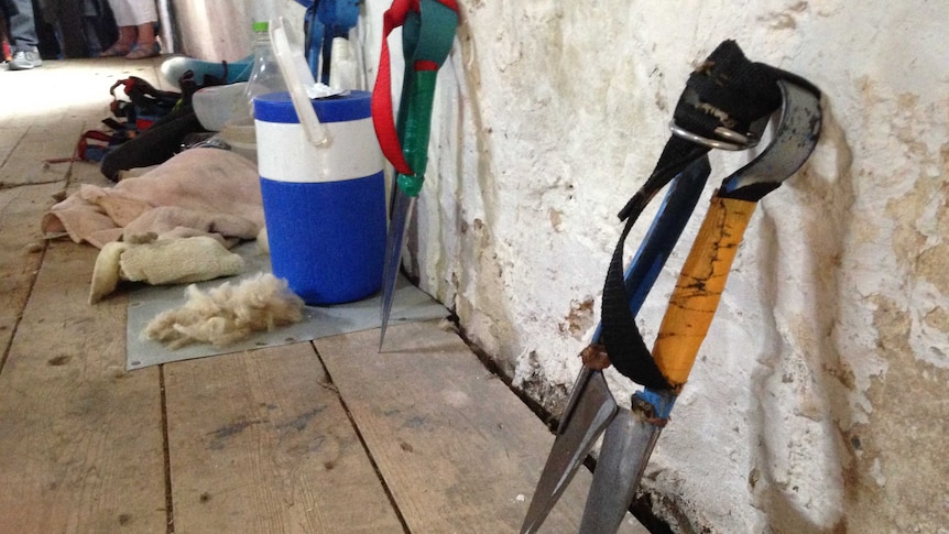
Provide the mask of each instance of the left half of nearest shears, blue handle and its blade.
{"label": "left half of nearest shears, blue handle and its blade", "polygon": [[[710,171],[708,159],[701,157],[670,184],[663,205],[659,207],[659,212],[653,220],[653,225],[646,232],[646,237],[625,273],[626,295],[629,295],[630,309],[634,315],[640,310],[646,294],[658,277],[676,241],[678,241],[689,215],[698,203]],[[599,337],[600,330],[598,329],[593,335],[593,342],[597,342]],[[591,381],[596,381],[593,388],[590,388]],[[591,371],[587,368],[580,371],[570,399],[567,401],[567,406],[560,416],[560,428],[557,431],[554,447],[547,457],[541,480],[537,482],[537,488],[531,500],[531,506],[521,528],[522,533],[534,532],[543,523],[563,494],[566,484],[572,479],[590,448],[603,432],[606,423],[587,415],[589,408],[586,408],[586,414],[578,410],[582,403],[596,402],[583,397],[591,394],[589,393],[591,391],[598,391],[600,386],[606,388],[601,372]],[[610,399],[612,400],[612,395]],[[576,428],[577,426],[587,428],[587,432],[576,429],[570,432],[571,427]],[[560,482],[563,482],[563,487]]]}

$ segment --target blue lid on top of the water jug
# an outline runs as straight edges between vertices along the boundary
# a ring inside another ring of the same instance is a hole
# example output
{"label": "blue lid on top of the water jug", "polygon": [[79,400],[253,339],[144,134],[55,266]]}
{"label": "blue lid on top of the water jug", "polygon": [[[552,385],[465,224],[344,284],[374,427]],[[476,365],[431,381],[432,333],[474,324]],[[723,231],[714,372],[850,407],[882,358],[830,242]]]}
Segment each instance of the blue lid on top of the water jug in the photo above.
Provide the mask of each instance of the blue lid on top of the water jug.
{"label": "blue lid on top of the water jug", "polygon": [[[367,119],[372,116],[372,94],[350,91],[338,97],[310,100],[320,122],[346,122]],[[299,118],[293,109],[290,92],[271,92],[253,99],[254,118],[263,122],[298,123]]]}

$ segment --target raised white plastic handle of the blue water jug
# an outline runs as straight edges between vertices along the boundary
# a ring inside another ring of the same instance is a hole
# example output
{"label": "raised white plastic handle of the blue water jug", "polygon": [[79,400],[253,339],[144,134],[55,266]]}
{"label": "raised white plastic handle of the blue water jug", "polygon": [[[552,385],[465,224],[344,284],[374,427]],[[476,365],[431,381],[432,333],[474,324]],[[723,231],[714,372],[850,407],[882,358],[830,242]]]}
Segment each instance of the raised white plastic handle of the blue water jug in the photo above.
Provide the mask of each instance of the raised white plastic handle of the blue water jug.
{"label": "raised white plastic handle of the blue water jug", "polygon": [[296,109],[296,116],[299,117],[299,124],[306,132],[306,138],[315,146],[326,143],[328,141],[326,129],[319,122],[319,118],[316,117],[313,102],[307,96],[307,88],[316,85],[316,80],[313,79],[313,73],[309,70],[303,54],[295,53],[291,48],[283,17],[270,22],[270,40],[273,43],[276,63],[283,73],[283,79],[290,90],[290,98],[293,100],[293,107]]}

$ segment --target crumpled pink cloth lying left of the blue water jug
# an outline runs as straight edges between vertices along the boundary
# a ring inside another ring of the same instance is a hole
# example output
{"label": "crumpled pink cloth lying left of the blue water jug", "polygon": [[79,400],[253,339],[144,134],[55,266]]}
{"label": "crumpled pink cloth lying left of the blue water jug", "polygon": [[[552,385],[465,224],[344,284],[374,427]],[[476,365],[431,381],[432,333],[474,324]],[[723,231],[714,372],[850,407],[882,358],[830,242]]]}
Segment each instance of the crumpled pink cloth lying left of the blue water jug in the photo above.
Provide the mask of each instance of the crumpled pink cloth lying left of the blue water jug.
{"label": "crumpled pink cloth lying left of the blue water jug", "polygon": [[110,241],[211,236],[255,239],[264,226],[257,166],[219,149],[190,149],[114,187],[83,185],[43,216],[47,236],[102,248]]}

